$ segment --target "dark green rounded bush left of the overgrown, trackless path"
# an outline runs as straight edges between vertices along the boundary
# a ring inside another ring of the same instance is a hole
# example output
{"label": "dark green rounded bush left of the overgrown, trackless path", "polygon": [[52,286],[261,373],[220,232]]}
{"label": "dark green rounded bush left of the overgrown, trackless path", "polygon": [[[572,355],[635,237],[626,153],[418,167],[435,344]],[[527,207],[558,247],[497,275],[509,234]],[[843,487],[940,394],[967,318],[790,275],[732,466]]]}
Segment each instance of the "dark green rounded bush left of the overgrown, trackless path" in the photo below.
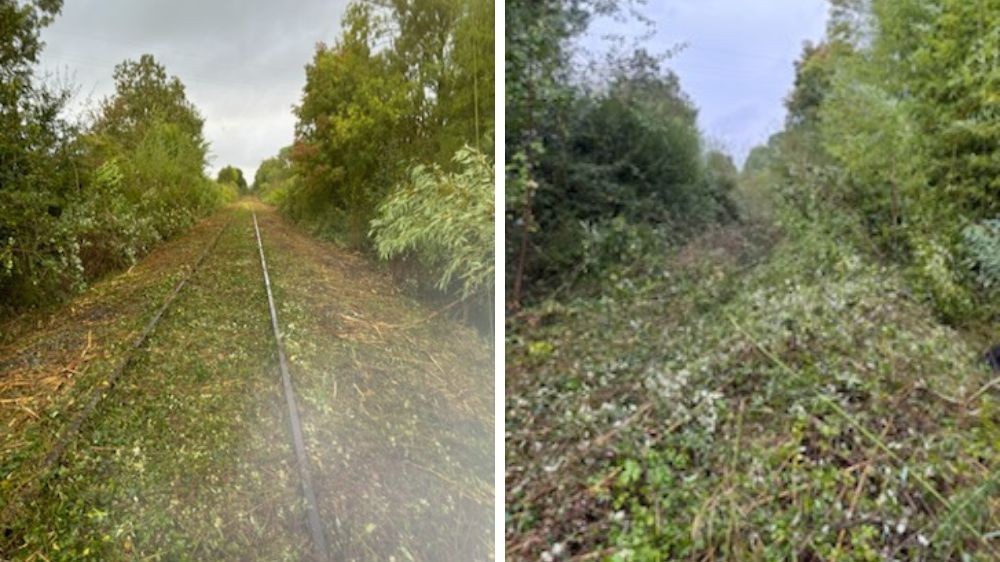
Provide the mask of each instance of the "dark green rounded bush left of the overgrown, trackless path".
{"label": "dark green rounded bush left of the overgrown, trackless path", "polygon": [[[581,269],[615,264],[614,249],[598,246],[613,246],[629,230],[680,241],[737,218],[736,167],[705,150],[679,79],[647,54],[621,61],[597,92],[565,95],[569,101],[533,127],[538,142],[508,156],[507,277],[515,301],[522,285],[530,300],[574,284]],[[585,258],[595,251],[604,256]]]}

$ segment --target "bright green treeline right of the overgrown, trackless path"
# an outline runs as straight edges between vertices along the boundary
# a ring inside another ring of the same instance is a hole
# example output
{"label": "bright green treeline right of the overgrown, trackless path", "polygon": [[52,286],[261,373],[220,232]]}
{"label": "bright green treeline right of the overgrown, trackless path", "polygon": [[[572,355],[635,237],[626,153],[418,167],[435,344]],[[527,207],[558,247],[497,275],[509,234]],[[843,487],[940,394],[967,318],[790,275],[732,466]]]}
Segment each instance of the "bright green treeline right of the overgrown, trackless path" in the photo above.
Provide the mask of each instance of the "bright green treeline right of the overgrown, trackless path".
{"label": "bright green treeline right of the overgrown, trackless path", "polygon": [[1000,313],[1000,3],[831,0],[784,131],[747,161],[797,216],[899,264],[954,323]]}

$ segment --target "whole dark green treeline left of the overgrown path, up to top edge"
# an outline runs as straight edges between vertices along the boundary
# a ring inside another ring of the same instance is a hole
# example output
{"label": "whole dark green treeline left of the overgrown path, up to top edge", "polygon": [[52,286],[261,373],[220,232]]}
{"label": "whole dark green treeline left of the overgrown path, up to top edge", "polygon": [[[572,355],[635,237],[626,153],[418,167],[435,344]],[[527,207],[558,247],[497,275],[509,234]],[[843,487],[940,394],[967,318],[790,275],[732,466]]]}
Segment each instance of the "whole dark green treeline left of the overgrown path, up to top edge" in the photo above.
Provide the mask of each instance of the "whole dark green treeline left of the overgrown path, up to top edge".
{"label": "whole dark green treeline left of the overgrown path, up to top edge", "polygon": [[506,229],[513,307],[736,218],[737,170],[708,150],[677,76],[643,51],[597,77],[572,42],[601,0],[507,3]]}

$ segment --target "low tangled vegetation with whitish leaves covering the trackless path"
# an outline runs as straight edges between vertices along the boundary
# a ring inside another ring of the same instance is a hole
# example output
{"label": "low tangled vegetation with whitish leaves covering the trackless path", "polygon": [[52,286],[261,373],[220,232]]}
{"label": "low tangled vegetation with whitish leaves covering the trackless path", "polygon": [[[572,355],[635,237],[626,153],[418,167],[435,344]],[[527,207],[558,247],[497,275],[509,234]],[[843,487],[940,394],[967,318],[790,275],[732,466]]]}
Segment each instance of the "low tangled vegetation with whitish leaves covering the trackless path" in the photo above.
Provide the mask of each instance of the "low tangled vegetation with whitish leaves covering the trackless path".
{"label": "low tangled vegetation with whitish leaves covering the trackless path", "polygon": [[981,350],[849,244],[752,231],[511,322],[508,555],[995,559]]}

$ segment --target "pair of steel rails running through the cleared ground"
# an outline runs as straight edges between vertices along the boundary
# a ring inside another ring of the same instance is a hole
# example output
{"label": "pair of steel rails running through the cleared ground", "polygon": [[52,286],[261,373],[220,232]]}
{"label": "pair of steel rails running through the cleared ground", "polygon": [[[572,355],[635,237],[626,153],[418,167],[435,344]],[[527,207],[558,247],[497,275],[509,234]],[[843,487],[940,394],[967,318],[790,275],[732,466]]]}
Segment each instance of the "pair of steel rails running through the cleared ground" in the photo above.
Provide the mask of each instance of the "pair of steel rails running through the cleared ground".
{"label": "pair of steel rails running through the cleared ground", "polygon": [[[285,356],[284,346],[281,338],[281,329],[278,323],[277,309],[274,304],[274,296],[271,291],[270,275],[267,268],[267,261],[264,254],[264,246],[261,240],[260,227],[257,223],[257,214],[252,212],[253,215],[253,225],[254,234],[257,240],[257,249],[260,256],[261,271],[264,278],[264,287],[267,294],[267,305],[269,316],[271,320],[272,333],[274,336],[275,346],[278,354],[278,366],[279,372],[282,379],[282,387],[284,390],[285,404],[289,416],[289,421],[291,425],[291,437],[292,445],[295,451],[296,463],[298,465],[298,472],[301,483],[302,495],[305,499],[306,504],[306,519],[309,527],[309,533],[312,540],[313,555],[317,562],[327,562],[330,560],[329,551],[327,548],[325,535],[323,532],[323,526],[319,516],[318,502],[316,500],[316,494],[312,484],[311,473],[309,470],[309,461],[305,452],[305,444],[302,435],[302,425],[299,417],[299,410],[296,404],[294,388],[292,386],[291,376],[288,372],[288,361]],[[100,403],[108,396],[108,394],[118,385],[119,381],[126,374],[127,369],[130,365],[136,363],[137,359],[140,357],[140,353],[143,347],[146,345],[147,341],[154,335],[157,326],[163,319],[170,307],[175,303],[178,296],[184,287],[190,282],[190,280],[198,273],[198,271],[204,265],[206,259],[215,250],[222,238],[223,234],[230,227],[233,222],[231,217],[226,221],[226,223],[219,229],[219,232],[215,234],[211,243],[205,248],[205,250],[199,255],[188,271],[178,283],[173,287],[173,289],[167,294],[167,297],[163,300],[162,304],[150,318],[150,320],[145,324],[142,331],[136,336],[127,349],[125,356],[119,361],[119,363],[112,370],[108,377],[99,383],[97,383],[95,389],[92,391],[89,399],[86,401],[82,409],[80,409],[76,415],[73,416],[69,425],[63,430],[55,444],[49,449],[48,453],[45,455],[41,462],[41,465],[37,469],[38,476],[28,480],[26,483],[15,487],[13,490],[9,491],[8,497],[12,498],[9,500],[2,512],[0,512],[0,529],[7,528],[8,523],[11,521],[11,517],[16,515],[17,511],[23,506],[24,501],[29,498],[32,494],[36,493],[39,486],[49,477],[52,476],[52,471],[60,463],[66,449],[71,445],[80,435],[80,429],[83,424],[90,419],[90,417],[98,410]],[[0,558],[2,559],[2,558]]]}

